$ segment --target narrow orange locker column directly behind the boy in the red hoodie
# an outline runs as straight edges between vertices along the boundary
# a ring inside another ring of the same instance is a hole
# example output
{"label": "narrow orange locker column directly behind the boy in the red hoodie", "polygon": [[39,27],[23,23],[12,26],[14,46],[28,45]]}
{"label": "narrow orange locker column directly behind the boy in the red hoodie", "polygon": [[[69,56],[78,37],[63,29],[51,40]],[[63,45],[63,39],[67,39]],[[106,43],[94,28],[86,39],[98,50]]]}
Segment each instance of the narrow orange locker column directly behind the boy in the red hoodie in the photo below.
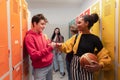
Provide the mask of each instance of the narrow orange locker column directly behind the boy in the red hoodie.
{"label": "narrow orange locker column directly behind the boy in the red hoodie", "polygon": [[[27,5],[26,5],[25,0],[22,0],[22,40],[24,40],[26,31],[27,31],[27,26],[28,26],[27,19],[28,19]],[[28,54],[23,54],[23,74],[22,75],[23,75],[24,80],[29,80],[29,57],[28,57]]]}

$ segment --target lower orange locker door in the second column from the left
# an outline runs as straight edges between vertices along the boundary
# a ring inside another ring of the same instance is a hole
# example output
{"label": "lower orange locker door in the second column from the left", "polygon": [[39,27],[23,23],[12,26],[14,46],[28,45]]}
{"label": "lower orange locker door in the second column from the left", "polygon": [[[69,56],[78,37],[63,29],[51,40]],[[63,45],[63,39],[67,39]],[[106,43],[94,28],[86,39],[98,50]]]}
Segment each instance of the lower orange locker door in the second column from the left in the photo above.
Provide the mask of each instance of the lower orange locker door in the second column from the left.
{"label": "lower orange locker door in the second column from the left", "polygon": [[22,64],[13,69],[13,80],[22,80]]}

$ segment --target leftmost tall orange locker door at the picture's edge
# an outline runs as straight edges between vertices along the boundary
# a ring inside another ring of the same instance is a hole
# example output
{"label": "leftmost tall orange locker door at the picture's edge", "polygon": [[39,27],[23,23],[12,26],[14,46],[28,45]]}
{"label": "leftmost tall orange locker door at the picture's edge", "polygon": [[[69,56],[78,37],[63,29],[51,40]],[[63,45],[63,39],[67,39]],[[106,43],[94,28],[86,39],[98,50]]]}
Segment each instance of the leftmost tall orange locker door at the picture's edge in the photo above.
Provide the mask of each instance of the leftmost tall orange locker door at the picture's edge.
{"label": "leftmost tall orange locker door at the picture's edge", "polygon": [[0,77],[9,71],[6,0],[0,0]]}

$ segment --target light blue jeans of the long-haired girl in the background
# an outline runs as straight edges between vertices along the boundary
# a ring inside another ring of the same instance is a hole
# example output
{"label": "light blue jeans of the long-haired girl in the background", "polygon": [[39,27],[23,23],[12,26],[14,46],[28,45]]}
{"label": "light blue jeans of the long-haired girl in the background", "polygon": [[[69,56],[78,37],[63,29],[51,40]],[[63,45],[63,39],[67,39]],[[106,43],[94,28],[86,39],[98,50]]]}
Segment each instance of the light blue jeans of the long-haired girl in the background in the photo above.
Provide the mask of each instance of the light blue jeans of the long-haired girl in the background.
{"label": "light blue jeans of the long-haired girl in the background", "polygon": [[53,51],[54,53],[54,60],[53,60],[53,67],[54,67],[54,70],[59,70],[60,73],[63,73],[65,72],[64,70],[64,60],[63,60],[63,57],[62,57],[62,54],[63,53],[55,53],[55,51]]}

